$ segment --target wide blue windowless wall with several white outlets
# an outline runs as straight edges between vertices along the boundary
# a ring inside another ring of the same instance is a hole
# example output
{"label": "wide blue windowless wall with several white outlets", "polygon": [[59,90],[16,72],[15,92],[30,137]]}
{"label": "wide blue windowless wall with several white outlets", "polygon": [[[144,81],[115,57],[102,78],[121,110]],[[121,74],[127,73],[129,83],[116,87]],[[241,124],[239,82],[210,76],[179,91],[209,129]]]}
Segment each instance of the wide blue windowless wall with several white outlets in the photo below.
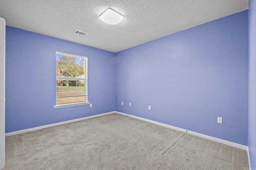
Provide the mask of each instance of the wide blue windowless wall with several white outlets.
{"label": "wide blue windowless wall with several white outlets", "polygon": [[116,111],[247,145],[248,10],[116,53]]}

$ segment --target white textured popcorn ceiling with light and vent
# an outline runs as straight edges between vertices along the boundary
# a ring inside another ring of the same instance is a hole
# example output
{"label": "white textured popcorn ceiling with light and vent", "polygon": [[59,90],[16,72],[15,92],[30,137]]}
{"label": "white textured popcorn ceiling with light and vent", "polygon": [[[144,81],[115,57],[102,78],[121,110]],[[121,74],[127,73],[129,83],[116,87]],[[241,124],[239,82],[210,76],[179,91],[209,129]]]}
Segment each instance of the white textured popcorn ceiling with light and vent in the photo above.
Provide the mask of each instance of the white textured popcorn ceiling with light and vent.
{"label": "white textured popcorn ceiling with light and vent", "polygon": [[[248,9],[249,0],[0,0],[6,25],[118,52]],[[118,25],[99,19],[112,8]],[[75,34],[76,29],[88,33]]]}

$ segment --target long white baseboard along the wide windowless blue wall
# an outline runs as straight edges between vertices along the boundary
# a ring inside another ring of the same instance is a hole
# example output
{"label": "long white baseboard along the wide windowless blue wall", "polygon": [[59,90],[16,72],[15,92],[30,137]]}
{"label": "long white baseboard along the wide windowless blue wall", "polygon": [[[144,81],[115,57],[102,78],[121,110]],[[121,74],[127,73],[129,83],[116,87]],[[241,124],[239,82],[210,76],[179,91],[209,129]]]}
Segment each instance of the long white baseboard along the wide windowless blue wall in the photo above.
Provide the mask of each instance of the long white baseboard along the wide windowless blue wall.
{"label": "long white baseboard along the wide windowless blue wall", "polygon": [[149,119],[144,119],[144,118],[141,118],[141,117],[137,117],[137,116],[134,116],[134,115],[129,115],[129,114],[118,112],[118,111],[116,111],[115,113],[118,113],[118,114],[121,114],[121,115],[126,115],[126,116],[129,116],[129,117],[133,117],[135,119],[140,119],[142,121],[147,121],[147,122],[150,122],[150,123],[154,123],[156,125],[160,125],[160,126],[163,126],[163,127],[167,127],[167,128],[170,128],[170,129],[174,129],[176,131],[181,131],[181,132],[188,133],[188,134],[191,134],[191,135],[195,135],[195,136],[198,136],[198,137],[202,137],[202,138],[205,138],[205,139],[209,139],[209,140],[212,140],[212,141],[215,141],[215,142],[223,143],[223,144],[226,144],[226,145],[229,145],[229,146],[232,146],[232,147],[236,147],[236,148],[239,148],[239,149],[248,150],[247,146],[241,145],[241,144],[238,144],[238,143],[226,141],[226,140],[223,140],[223,139],[218,139],[216,137],[211,137],[211,136],[208,136],[208,135],[203,135],[201,133],[196,133],[196,132],[193,132],[193,131],[188,131],[186,129],[182,129],[182,128],[179,128],[179,127],[167,125],[167,124],[160,123],[160,122],[157,122],[157,121],[152,121],[152,120],[149,120]]}

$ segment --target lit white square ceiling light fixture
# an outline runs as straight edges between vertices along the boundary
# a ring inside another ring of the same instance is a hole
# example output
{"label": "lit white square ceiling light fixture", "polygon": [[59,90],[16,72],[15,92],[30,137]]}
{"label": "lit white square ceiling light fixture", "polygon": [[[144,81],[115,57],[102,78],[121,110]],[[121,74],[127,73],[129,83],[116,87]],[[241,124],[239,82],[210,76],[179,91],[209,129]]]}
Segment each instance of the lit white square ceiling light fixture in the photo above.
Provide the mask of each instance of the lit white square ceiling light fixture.
{"label": "lit white square ceiling light fixture", "polygon": [[116,25],[120,23],[123,19],[124,16],[118,14],[111,8],[108,8],[108,10],[106,10],[103,14],[100,15],[100,20],[110,25]]}

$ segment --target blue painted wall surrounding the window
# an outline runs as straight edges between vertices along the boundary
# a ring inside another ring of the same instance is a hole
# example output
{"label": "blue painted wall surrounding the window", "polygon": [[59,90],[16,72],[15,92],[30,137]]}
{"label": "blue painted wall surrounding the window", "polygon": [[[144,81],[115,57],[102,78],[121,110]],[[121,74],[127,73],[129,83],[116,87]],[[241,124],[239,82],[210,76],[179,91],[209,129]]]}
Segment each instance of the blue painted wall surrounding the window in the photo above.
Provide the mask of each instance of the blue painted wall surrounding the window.
{"label": "blue painted wall surrounding the window", "polygon": [[[88,57],[89,105],[56,105],[56,51]],[[115,111],[115,53],[6,27],[6,133]]]}

